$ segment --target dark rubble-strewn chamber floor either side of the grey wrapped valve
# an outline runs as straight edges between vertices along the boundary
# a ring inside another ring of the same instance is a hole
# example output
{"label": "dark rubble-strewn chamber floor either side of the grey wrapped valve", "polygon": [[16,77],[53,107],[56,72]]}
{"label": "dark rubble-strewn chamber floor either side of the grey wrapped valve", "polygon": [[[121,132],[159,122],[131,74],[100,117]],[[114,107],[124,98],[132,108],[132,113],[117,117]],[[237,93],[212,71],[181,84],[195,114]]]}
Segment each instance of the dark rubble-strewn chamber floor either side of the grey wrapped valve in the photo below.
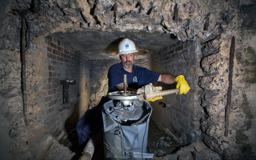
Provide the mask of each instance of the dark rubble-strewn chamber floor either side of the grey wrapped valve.
{"label": "dark rubble-strewn chamber floor either side of the grey wrapped valve", "polygon": [[[173,153],[181,146],[163,130],[158,129],[156,123],[152,119],[150,119],[147,140],[147,153],[152,153],[156,157],[161,157],[166,154]],[[95,145],[95,151],[92,160],[104,160],[103,131],[95,134],[93,136],[93,141]],[[68,138],[60,140],[59,143],[63,144],[71,151],[76,153],[76,156],[73,158],[74,160],[79,159],[81,156],[81,151],[79,150],[76,131],[72,132]]]}

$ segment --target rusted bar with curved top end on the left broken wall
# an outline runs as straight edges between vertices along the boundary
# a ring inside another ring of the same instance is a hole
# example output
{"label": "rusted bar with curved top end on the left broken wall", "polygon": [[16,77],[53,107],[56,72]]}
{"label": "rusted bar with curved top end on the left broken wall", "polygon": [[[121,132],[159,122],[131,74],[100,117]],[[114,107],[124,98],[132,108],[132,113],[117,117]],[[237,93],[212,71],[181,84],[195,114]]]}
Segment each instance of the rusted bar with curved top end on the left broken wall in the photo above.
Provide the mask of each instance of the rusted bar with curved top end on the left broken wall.
{"label": "rusted bar with curved top end on the left broken wall", "polygon": [[[29,23],[25,15],[18,11],[22,15],[22,29],[21,29],[21,62],[22,62],[22,98],[23,98],[23,116],[24,116],[24,122],[27,126],[28,119],[27,119],[27,94],[26,94],[26,51],[29,49],[29,43],[30,43],[30,29],[29,29]],[[27,28],[27,29],[26,29]],[[26,31],[27,30],[27,31]],[[28,36],[26,36],[28,33]]]}

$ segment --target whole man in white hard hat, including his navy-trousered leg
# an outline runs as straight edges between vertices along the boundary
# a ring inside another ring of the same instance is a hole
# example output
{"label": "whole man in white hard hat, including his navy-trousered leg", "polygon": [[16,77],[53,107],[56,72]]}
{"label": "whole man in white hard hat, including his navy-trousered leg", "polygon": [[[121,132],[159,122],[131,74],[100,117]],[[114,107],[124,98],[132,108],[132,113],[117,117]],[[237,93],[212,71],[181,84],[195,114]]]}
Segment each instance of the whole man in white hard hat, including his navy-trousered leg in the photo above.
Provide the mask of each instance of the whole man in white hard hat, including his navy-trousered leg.
{"label": "whole man in white hard hat, including his navy-trousered leg", "polygon": [[[135,52],[138,52],[138,50],[130,39],[125,38],[119,43],[118,52],[116,54],[119,55],[121,63],[114,64],[109,68],[108,92],[123,90],[124,74],[127,75],[127,90],[129,91],[137,91],[137,89],[141,88],[145,84],[154,84],[156,81],[166,84],[176,82],[176,87],[180,89],[180,94],[186,94],[189,91],[190,87],[182,75],[175,77],[171,74],[159,74],[148,70],[147,68],[134,65],[133,60],[135,58]],[[159,97],[153,98],[152,101],[156,99],[159,99]],[[77,122],[76,131],[81,148],[86,145],[92,131],[100,131],[102,129],[102,105],[108,100],[110,99],[105,98],[101,100],[98,106],[88,110],[85,116]]]}

